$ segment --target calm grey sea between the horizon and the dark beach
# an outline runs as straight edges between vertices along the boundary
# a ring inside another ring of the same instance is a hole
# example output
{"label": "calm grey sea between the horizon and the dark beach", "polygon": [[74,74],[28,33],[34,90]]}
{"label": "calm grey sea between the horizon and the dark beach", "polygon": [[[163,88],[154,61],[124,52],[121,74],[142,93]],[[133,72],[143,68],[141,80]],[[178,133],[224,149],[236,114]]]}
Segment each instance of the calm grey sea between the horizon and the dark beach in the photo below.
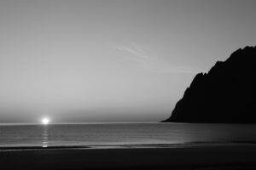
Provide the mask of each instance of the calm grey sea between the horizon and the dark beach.
{"label": "calm grey sea between the horizon and the dark beach", "polygon": [[97,123],[1,125],[0,147],[254,142],[256,125]]}

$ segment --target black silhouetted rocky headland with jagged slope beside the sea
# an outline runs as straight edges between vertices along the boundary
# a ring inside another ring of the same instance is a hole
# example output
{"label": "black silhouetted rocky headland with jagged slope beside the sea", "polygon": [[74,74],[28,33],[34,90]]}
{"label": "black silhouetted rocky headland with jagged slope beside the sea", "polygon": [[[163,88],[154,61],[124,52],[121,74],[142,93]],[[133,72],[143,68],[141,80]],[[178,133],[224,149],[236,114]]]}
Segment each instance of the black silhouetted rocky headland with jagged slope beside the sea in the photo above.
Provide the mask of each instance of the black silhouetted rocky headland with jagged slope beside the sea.
{"label": "black silhouetted rocky headland with jagged slope beside the sea", "polygon": [[256,47],[199,73],[163,122],[256,122]]}

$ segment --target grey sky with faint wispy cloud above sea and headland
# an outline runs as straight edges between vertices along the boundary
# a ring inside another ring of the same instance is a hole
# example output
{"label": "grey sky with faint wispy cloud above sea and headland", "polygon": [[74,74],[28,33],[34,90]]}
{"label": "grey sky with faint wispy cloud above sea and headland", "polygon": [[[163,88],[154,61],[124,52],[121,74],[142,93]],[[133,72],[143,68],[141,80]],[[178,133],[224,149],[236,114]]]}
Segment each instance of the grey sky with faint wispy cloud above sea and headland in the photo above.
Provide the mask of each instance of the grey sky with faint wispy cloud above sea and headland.
{"label": "grey sky with faint wispy cloud above sea and headland", "polygon": [[0,122],[159,122],[254,46],[254,0],[1,0]]}

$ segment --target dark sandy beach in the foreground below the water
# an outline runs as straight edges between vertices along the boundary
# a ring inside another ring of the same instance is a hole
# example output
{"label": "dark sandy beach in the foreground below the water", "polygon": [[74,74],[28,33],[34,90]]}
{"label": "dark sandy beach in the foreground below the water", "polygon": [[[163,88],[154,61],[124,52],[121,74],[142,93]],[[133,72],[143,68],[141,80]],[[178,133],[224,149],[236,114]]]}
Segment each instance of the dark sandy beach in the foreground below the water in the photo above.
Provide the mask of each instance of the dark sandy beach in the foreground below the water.
{"label": "dark sandy beach in the foreground below the water", "polygon": [[256,145],[4,151],[0,169],[256,169]]}

